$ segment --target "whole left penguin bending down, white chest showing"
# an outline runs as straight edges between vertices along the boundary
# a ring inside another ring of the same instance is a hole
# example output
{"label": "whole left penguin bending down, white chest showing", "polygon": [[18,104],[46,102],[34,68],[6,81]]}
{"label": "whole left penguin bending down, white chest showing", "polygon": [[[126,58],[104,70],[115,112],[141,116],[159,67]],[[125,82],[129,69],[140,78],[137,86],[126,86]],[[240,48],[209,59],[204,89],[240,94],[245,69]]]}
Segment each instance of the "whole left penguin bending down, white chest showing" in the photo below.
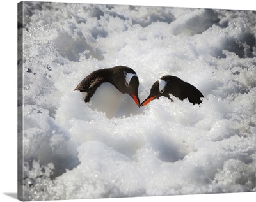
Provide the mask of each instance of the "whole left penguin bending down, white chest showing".
{"label": "whole left penguin bending down, white chest showing", "polygon": [[129,94],[140,107],[138,87],[139,79],[133,69],[115,66],[93,71],[74,90],[79,90],[82,94],[85,92],[84,102],[90,101],[92,108],[105,112],[107,117],[115,117],[124,94]]}

